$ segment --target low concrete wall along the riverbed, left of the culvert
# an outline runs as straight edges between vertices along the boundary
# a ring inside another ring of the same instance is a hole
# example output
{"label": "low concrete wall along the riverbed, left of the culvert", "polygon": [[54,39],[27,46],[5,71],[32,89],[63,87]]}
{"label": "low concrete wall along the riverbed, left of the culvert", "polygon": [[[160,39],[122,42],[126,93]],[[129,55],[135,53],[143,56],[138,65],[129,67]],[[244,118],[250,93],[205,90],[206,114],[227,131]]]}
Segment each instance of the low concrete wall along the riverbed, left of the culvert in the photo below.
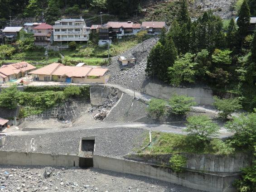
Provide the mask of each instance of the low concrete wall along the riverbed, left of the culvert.
{"label": "low concrete wall along the riverbed, left of the culvert", "polygon": [[24,166],[63,166],[73,167],[79,165],[77,155],[52,155],[40,153],[24,153],[13,151],[0,151],[1,165],[24,165]]}

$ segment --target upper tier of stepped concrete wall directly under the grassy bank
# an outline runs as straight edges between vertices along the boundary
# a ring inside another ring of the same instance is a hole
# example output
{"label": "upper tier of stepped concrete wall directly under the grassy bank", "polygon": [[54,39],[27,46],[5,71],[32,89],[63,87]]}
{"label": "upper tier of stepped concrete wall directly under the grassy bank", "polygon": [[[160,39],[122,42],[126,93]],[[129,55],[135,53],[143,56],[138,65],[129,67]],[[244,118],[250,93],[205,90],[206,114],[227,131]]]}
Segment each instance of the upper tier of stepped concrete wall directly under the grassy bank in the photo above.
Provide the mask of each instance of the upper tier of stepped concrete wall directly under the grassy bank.
{"label": "upper tier of stepped concrete wall directly under the grassy bank", "polygon": [[[214,155],[214,154],[192,154],[180,153],[187,158],[187,165],[184,168],[207,171],[213,173],[239,173],[241,168],[251,165],[252,157],[248,154],[234,154],[234,155]],[[169,165],[169,159],[172,154],[161,155],[143,155],[136,154],[126,155],[125,158],[142,161],[145,163],[153,163],[156,165],[165,163]]]}

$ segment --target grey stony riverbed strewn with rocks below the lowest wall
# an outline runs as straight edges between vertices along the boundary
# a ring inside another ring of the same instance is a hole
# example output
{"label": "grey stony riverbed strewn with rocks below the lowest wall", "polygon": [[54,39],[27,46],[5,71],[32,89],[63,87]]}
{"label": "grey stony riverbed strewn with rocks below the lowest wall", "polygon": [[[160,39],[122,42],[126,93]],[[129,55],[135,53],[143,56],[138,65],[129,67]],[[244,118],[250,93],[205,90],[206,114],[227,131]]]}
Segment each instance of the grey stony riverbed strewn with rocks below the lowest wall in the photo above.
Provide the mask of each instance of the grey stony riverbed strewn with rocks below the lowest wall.
{"label": "grey stony riverbed strewn with rocks below the lowest wall", "polygon": [[[43,167],[0,166],[1,192],[200,192],[152,178],[97,168],[52,168],[42,178]],[[8,177],[5,171],[14,175]]]}

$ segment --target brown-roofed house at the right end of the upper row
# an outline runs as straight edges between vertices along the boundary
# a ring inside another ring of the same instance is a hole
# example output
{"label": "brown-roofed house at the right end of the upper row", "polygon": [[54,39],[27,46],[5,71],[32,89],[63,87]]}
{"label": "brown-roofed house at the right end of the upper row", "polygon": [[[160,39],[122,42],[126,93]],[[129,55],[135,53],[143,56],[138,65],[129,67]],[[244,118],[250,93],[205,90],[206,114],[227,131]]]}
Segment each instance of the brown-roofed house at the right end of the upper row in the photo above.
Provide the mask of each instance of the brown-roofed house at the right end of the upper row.
{"label": "brown-roofed house at the right end of the upper row", "polygon": [[141,24],[141,30],[147,31],[149,35],[159,35],[161,30],[166,27],[163,21],[145,21]]}

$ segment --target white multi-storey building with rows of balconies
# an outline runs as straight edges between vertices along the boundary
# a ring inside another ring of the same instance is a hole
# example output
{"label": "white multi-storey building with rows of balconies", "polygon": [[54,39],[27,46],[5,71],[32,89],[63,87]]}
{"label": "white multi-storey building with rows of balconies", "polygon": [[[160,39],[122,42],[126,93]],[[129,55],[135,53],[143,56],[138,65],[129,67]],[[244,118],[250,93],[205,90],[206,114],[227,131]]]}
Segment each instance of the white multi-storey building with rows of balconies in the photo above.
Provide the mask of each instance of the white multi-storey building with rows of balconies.
{"label": "white multi-storey building with rows of balconies", "polygon": [[53,41],[58,48],[68,48],[68,43],[76,41],[79,43],[89,40],[90,28],[84,19],[61,19],[53,25]]}

